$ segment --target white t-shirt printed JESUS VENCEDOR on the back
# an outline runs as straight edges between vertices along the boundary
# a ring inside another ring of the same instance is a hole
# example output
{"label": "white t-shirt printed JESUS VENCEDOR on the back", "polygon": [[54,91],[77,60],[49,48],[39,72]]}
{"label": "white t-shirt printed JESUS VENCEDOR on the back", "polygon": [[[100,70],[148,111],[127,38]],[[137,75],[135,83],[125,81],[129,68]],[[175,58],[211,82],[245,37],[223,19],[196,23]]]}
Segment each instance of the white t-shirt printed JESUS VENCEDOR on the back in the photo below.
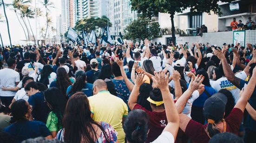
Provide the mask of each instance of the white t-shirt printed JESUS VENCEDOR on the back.
{"label": "white t-shirt printed JESUS VENCEDOR on the back", "polygon": [[[245,80],[247,78],[247,75],[244,71],[237,73],[236,77]],[[218,79],[217,81],[211,81],[211,87],[214,88],[215,90],[217,90],[217,92],[221,89],[227,89],[229,90],[234,99],[235,102],[238,101],[239,99],[239,93],[240,93],[240,89],[237,88],[236,86],[234,86],[230,81],[228,81],[228,79],[226,77],[222,77],[220,79]]]}

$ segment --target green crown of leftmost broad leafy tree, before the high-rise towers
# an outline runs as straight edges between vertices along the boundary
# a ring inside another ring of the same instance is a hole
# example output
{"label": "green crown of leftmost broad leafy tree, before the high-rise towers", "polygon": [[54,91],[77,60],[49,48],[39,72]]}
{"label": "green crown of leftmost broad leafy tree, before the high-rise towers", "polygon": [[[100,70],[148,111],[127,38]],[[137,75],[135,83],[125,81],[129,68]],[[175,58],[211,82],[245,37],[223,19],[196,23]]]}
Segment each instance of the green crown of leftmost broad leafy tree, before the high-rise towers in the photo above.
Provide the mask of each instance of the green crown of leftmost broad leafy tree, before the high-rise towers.
{"label": "green crown of leftmost broad leafy tree, before the high-rise towers", "polygon": [[90,18],[90,19],[81,19],[75,25],[75,30],[81,32],[85,30],[87,32],[96,30],[96,28],[105,28],[106,26],[111,27],[112,23],[106,16],[102,16],[102,18]]}

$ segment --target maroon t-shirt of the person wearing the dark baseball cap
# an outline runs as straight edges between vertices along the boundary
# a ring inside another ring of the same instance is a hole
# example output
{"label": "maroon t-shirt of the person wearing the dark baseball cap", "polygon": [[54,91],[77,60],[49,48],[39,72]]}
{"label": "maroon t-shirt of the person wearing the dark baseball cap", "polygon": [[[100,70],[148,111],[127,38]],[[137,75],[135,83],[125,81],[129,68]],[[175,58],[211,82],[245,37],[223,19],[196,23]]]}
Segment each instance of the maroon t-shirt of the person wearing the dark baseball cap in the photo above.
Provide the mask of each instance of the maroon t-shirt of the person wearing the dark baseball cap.
{"label": "maroon t-shirt of the person wearing the dark baseball cap", "polygon": [[[239,108],[234,108],[229,116],[225,118],[227,124],[227,132],[233,134],[238,134],[239,127],[241,125],[243,118],[243,112]],[[207,124],[200,124],[194,120],[190,120],[185,133],[195,142],[195,143],[208,143],[210,137],[205,132]]]}

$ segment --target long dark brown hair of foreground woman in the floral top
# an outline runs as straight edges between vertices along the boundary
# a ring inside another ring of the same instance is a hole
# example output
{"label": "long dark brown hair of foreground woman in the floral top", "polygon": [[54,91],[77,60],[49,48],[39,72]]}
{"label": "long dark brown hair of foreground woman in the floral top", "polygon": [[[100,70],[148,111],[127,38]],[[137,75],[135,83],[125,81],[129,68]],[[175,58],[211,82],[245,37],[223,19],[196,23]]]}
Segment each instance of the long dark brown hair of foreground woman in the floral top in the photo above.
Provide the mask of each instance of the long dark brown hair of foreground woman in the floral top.
{"label": "long dark brown hair of foreground woman in the floral top", "polygon": [[[81,110],[83,109],[83,110]],[[74,112],[76,111],[76,112]],[[87,96],[82,93],[75,93],[68,100],[63,116],[63,128],[65,143],[94,143],[97,137],[93,124],[103,132],[107,142],[110,140],[103,127],[91,118],[91,110]]]}

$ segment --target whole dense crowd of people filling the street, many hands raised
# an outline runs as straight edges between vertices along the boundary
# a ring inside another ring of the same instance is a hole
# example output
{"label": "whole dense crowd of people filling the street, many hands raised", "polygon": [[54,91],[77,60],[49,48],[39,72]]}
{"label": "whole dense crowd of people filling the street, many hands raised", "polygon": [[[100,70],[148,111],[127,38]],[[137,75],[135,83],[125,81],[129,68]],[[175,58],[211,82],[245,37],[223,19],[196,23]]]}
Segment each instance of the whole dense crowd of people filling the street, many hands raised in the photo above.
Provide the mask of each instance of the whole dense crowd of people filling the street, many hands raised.
{"label": "whole dense crowd of people filling the street, many hands raised", "polygon": [[255,142],[256,45],[97,42],[0,51],[1,143]]}

